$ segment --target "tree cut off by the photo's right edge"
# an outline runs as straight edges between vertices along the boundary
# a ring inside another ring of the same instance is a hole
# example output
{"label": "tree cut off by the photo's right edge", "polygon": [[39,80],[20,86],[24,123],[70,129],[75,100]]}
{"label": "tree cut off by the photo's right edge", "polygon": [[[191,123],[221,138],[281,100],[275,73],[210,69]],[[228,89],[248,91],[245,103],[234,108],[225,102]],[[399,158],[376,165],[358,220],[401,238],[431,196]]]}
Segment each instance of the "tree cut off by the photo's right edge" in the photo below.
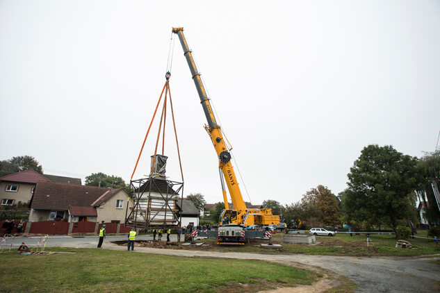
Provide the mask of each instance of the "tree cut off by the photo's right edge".
{"label": "tree cut off by the photo's right edge", "polygon": [[[440,210],[437,205],[437,199],[434,196],[433,183],[437,183],[440,188],[440,151],[434,153],[426,153],[418,162],[421,167],[425,181],[418,189],[418,194],[424,196],[426,194],[427,201],[430,203],[425,206],[425,218],[429,223],[438,223],[440,219]],[[424,200],[424,198],[422,197]],[[439,203],[440,204],[440,203]]]}

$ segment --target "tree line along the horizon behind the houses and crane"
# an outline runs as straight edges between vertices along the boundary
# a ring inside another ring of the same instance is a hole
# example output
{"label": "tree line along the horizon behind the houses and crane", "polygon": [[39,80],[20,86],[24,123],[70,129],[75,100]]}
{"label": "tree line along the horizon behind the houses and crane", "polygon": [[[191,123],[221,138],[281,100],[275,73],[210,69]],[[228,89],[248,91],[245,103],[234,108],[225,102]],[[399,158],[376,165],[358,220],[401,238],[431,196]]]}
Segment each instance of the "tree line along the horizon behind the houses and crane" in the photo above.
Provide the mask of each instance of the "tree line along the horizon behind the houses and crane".
{"label": "tree line along the horizon behind the houses and crane", "polygon": [[[17,156],[0,161],[0,176],[25,169],[43,174],[40,163],[32,156]],[[337,196],[327,186],[318,185],[302,194],[300,201],[281,205],[278,201],[263,201],[262,208],[271,208],[273,215],[293,228],[311,226],[341,226],[356,229],[389,226],[396,232],[398,226],[418,223],[416,201],[427,201],[425,219],[439,224],[440,210],[434,196],[440,186],[440,151],[425,153],[423,158],[404,155],[392,146],[370,144],[362,149],[348,173],[348,187]],[[44,175],[44,174],[43,174]],[[85,185],[99,187],[125,187],[119,176],[101,172],[85,177]],[[186,196],[198,210],[204,210],[202,194]],[[250,204],[250,203],[247,203]],[[215,204],[208,220],[218,222],[225,203]],[[206,209],[205,209],[206,210]]]}

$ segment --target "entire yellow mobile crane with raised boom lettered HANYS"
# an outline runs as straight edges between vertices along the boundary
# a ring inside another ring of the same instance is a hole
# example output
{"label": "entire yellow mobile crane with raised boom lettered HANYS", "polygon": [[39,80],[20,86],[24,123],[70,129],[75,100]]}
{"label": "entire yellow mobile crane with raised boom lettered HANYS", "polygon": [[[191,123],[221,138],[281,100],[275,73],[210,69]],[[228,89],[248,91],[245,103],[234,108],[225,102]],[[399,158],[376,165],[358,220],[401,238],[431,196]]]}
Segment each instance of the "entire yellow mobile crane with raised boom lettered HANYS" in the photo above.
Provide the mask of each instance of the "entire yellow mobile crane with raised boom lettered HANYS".
{"label": "entire yellow mobile crane with raised boom lettered HANYS", "polygon": [[[225,210],[220,215],[220,225],[218,229],[219,243],[223,242],[245,242],[245,238],[248,235],[255,235],[255,233],[247,233],[246,226],[251,225],[269,225],[279,224],[279,217],[272,215],[271,209],[251,209],[246,208],[245,201],[241,195],[240,187],[235,176],[234,168],[231,164],[231,147],[227,147],[225,139],[222,135],[222,130],[209,103],[209,97],[206,94],[202,78],[197,71],[195,62],[193,59],[192,51],[188,47],[186,38],[184,35],[184,28],[172,28],[172,33],[176,33],[179,36],[182,48],[184,49],[184,56],[190,67],[191,76],[197,92],[199,94],[200,103],[204,110],[208,125],[205,125],[206,132],[209,134],[211,141],[214,145],[215,152],[218,155],[220,182],[222,183],[223,200],[225,201]],[[226,178],[227,188],[229,195],[231,196],[233,209],[229,209],[227,194],[225,190],[225,184],[223,176]],[[248,235],[246,235],[248,234]],[[252,236],[249,236],[252,237]],[[254,237],[259,237],[256,235]]]}

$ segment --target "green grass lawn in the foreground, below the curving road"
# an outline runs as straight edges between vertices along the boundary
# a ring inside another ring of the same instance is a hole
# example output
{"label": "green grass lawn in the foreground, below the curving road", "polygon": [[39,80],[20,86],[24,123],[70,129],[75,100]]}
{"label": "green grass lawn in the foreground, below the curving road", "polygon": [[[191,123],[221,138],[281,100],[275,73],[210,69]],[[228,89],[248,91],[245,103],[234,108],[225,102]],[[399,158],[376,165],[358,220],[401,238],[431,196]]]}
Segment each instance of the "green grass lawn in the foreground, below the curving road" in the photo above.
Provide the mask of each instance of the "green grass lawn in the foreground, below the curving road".
{"label": "green grass lawn in the foreground, below the curving road", "polygon": [[320,275],[253,260],[181,258],[105,249],[0,255],[1,292],[256,292],[310,285]]}

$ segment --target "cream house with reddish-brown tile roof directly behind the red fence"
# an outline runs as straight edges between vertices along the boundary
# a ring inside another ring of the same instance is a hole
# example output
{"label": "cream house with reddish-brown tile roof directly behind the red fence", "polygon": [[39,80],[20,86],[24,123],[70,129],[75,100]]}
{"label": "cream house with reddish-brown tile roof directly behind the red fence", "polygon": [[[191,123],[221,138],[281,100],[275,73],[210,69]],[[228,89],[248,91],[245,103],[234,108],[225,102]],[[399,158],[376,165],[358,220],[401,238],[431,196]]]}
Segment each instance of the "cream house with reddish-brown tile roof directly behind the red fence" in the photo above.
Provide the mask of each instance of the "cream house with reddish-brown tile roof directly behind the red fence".
{"label": "cream house with reddish-brown tile roof directly behind the red fence", "polygon": [[88,185],[38,181],[31,202],[29,221],[65,219],[68,222],[124,223],[128,194]]}

